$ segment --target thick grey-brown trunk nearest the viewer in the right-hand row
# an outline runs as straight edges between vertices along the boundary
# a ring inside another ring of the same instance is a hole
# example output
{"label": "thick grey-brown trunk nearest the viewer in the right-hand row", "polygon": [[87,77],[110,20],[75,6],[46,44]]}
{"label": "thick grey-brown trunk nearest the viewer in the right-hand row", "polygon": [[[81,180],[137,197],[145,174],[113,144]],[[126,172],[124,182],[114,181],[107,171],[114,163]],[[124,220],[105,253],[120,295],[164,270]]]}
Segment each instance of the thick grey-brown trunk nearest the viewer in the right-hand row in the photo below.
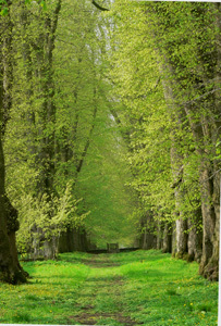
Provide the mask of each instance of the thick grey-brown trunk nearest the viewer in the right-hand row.
{"label": "thick grey-brown trunk nearest the viewer in the right-hand row", "polygon": [[[216,100],[209,99],[212,109],[218,112]],[[217,109],[216,109],[217,106]],[[197,145],[197,153],[200,156],[199,185],[201,192],[201,214],[202,214],[202,254],[199,273],[207,278],[218,279],[219,267],[219,212],[220,212],[220,177],[219,164],[211,162],[208,155],[216,152],[216,142],[219,135],[220,123],[213,124],[202,116],[200,123],[196,124],[191,117],[191,110],[185,106],[189,118],[193,136]],[[212,114],[212,112],[211,112]],[[208,139],[211,141],[208,143]]]}

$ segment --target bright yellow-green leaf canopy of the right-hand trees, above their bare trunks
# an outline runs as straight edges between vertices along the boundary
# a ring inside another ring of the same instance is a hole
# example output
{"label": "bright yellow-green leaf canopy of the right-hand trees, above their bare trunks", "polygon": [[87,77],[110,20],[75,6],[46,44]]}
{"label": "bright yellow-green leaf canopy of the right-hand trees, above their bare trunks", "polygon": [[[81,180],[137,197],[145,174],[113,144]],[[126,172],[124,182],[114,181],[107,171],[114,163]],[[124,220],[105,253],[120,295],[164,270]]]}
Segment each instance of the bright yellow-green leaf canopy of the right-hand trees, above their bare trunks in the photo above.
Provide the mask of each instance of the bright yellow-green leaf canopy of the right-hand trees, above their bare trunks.
{"label": "bright yellow-green leaf canopy of the right-hand trees, above their bare trunks", "polygon": [[220,138],[216,5],[115,1],[110,15],[112,97],[122,103],[115,111],[128,146],[130,186],[143,216],[151,211],[172,221],[181,212],[197,223],[200,173]]}

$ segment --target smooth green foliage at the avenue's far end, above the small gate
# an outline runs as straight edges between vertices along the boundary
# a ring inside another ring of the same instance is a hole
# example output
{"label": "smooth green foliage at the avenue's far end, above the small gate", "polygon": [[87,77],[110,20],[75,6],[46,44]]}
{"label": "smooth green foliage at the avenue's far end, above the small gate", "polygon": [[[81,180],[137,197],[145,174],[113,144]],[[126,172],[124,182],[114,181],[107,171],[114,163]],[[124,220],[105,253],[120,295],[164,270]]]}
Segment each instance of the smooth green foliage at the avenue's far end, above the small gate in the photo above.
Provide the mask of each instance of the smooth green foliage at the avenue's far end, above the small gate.
{"label": "smooth green foliage at the avenue's far end, above the small gate", "polygon": [[[93,241],[105,247],[107,242],[132,244],[136,235],[133,211],[135,196],[125,186],[132,178],[122,160],[125,148],[109,112],[100,112],[85,165],[77,180],[77,196],[90,210],[85,221]],[[103,135],[100,138],[100,135]]]}

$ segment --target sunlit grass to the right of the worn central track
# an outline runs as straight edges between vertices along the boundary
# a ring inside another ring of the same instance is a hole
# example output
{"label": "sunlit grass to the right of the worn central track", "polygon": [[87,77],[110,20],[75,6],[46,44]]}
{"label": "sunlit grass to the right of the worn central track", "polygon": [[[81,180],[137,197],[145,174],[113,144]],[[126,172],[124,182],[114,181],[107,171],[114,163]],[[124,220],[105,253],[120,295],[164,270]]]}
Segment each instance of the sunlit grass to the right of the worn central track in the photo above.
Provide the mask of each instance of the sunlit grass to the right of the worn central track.
{"label": "sunlit grass to the right of the worn central track", "polygon": [[159,326],[217,325],[218,284],[201,278],[197,263],[174,260],[154,250],[111,259],[122,260],[125,303],[137,322]]}

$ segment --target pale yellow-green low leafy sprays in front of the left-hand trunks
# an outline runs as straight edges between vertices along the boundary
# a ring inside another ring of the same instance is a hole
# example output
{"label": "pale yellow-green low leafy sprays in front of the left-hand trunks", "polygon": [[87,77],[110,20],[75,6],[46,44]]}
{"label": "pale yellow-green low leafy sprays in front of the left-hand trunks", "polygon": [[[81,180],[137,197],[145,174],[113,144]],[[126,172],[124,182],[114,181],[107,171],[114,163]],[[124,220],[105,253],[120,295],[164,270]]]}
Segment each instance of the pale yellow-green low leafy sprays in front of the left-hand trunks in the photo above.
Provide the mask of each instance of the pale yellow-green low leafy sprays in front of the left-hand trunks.
{"label": "pale yellow-green low leafy sprays in front of the left-hand trunks", "polygon": [[39,241],[41,236],[37,229],[41,229],[46,241],[53,237],[59,239],[60,234],[67,228],[77,228],[84,225],[89,212],[79,214],[77,212],[78,203],[79,200],[73,199],[70,185],[66,186],[63,196],[53,197],[50,201],[46,195],[40,199],[34,199],[26,195],[14,202],[19,209],[21,221],[17,231],[19,252],[26,256],[32,251],[33,238]]}

